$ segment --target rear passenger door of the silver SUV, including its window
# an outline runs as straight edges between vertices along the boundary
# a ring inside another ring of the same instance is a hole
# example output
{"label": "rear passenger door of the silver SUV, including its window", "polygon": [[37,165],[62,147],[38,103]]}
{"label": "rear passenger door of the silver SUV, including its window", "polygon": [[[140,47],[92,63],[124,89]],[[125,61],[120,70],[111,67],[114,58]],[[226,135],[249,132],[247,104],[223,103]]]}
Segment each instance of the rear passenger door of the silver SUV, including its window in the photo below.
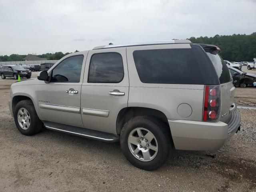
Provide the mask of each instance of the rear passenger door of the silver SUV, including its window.
{"label": "rear passenger door of the silver SUV, including its window", "polygon": [[84,127],[116,134],[116,118],[128,107],[128,93],[126,48],[89,51],[81,94]]}

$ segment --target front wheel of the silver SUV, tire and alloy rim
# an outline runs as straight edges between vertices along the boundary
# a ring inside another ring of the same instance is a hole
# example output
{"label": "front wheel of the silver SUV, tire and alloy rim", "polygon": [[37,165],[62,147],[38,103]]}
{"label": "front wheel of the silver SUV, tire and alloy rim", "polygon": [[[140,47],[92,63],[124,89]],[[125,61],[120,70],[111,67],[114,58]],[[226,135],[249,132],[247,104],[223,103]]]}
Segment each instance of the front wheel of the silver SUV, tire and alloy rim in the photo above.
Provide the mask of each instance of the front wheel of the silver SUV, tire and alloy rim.
{"label": "front wheel of the silver SUV, tire and alloy rim", "polygon": [[[20,111],[23,112],[24,116],[21,115],[22,113]],[[18,119],[18,116],[21,118]],[[16,127],[24,135],[34,135],[40,132],[44,127],[36,114],[36,110],[31,100],[22,100],[16,104],[14,108],[14,120]],[[20,120],[22,121],[19,122]],[[27,122],[25,122],[25,120]]]}

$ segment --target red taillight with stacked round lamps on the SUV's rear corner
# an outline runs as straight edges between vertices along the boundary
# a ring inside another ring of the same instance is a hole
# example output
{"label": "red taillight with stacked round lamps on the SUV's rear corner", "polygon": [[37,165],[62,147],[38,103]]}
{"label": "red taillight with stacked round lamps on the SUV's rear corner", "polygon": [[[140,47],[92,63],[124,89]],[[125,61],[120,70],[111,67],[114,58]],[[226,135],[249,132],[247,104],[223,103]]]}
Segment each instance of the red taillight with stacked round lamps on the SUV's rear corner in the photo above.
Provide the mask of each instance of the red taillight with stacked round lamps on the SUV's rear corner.
{"label": "red taillight with stacked round lamps on the SUV's rear corner", "polygon": [[220,116],[220,85],[204,86],[204,121],[218,121]]}

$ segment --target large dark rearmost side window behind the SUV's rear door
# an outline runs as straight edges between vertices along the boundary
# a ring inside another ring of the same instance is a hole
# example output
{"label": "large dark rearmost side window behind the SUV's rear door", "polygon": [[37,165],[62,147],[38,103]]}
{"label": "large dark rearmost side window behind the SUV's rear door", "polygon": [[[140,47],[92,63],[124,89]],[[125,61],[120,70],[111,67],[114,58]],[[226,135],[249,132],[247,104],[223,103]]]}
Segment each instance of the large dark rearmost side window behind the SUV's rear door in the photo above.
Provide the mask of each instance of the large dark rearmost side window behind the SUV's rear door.
{"label": "large dark rearmost side window behind the SUV's rear door", "polygon": [[136,50],[133,58],[143,83],[203,84],[191,49]]}

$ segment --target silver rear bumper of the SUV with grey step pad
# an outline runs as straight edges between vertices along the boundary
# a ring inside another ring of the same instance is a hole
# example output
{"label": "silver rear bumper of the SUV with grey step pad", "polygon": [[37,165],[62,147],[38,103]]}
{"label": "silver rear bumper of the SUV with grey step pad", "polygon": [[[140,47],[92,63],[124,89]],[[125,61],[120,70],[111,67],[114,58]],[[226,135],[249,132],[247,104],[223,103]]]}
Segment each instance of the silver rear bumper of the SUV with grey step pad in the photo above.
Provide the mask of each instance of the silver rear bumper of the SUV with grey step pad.
{"label": "silver rear bumper of the SUV with grey step pad", "polygon": [[237,132],[240,121],[240,114],[235,109],[227,123],[188,120],[168,120],[168,123],[177,150],[218,150]]}

